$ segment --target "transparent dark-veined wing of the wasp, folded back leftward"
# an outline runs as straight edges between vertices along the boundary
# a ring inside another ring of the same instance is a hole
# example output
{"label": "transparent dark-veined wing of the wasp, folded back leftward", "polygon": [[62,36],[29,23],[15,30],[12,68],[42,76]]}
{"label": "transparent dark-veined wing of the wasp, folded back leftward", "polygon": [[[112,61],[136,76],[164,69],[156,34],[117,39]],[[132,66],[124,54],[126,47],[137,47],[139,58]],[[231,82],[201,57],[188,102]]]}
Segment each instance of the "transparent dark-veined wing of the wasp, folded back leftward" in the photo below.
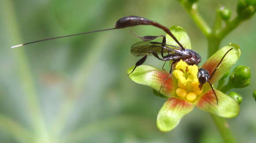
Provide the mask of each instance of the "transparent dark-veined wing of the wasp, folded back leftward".
{"label": "transparent dark-veined wing of the wasp, folded back leftward", "polygon": [[[131,53],[138,57],[138,56],[145,56],[150,51],[154,51],[156,53],[181,53],[181,47],[172,46],[164,43],[159,42],[138,42],[132,45]],[[151,54],[149,54],[151,55]]]}

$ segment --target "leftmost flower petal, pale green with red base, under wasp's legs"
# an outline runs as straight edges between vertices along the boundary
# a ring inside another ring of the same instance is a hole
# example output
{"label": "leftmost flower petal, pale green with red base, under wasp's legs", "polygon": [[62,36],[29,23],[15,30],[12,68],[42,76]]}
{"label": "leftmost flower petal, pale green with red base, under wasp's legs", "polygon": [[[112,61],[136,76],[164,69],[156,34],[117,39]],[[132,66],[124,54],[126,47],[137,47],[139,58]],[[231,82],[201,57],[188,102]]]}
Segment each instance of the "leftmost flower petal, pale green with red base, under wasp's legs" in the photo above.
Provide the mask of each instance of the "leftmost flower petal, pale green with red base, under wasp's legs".
{"label": "leftmost flower petal, pale green with red base, under wasp's legs", "polygon": [[[131,73],[133,68],[134,66],[129,68],[127,73]],[[140,65],[131,75],[129,75],[129,78],[136,83],[150,86],[157,91],[159,91],[162,85],[160,93],[166,97],[170,97],[171,95],[175,95],[174,89],[177,87],[177,81],[173,76],[171,76],[164,82],[168,76],[169,73],[164,70],[160,70],[153,66]]]}

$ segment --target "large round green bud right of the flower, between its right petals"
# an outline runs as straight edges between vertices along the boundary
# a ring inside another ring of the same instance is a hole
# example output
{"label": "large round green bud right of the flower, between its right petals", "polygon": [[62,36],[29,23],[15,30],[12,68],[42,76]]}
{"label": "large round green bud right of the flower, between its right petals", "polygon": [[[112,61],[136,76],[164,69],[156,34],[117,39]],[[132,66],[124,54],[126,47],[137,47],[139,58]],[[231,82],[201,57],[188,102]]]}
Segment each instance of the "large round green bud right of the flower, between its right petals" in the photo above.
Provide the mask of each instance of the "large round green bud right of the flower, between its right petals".
{"label": "large round green bud right of the flower, between its right petals", "polygon": [[236,67],[230,75],[229,84],[233,88],[243,88],[251,83],[251,70],[249,67],[240,65]]}

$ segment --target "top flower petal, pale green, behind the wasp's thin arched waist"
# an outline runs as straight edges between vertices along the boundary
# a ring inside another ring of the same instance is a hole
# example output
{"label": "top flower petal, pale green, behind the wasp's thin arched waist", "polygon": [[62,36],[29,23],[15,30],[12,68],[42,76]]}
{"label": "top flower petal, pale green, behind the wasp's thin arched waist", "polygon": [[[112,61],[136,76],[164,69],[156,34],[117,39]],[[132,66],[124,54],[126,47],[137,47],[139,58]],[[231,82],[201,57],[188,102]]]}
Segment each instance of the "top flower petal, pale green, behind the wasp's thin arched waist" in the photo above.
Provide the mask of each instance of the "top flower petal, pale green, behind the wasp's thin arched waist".
{"label": "top flower petal, pale green, behind the wasp's thin arched waist", "polygon": [[[177,40],[181,43],[184,48],[191,49],[191,43],[190,39],[188,37],[187,32],[180,26],[172,26],[170,28],[170,31],[173,33],[173,35],[177,38]],[[166,34],[166,43],[173,46],[179,46],[171,36]]]}

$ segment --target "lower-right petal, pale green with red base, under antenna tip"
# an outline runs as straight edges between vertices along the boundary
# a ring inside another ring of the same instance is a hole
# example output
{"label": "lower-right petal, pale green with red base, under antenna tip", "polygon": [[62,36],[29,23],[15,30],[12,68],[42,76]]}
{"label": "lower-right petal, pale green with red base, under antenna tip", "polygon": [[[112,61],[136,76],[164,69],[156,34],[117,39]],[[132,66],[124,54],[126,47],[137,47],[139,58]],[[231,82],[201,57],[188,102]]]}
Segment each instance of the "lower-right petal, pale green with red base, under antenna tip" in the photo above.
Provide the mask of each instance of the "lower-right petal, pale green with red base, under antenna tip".
{"label": "lower-right petal, pale green with red base, under antenna tip", "polygon": [[210,89],[207,93],[203,94],[202,97],[196,103],[196,107],[203,111],[208,111],[225,118],[233,118],[239,114],[239,104],[233,98],[227,96],[221,91],[215,89],[215,93],[218,97],[218,104],[216,102],[215,95]]}

